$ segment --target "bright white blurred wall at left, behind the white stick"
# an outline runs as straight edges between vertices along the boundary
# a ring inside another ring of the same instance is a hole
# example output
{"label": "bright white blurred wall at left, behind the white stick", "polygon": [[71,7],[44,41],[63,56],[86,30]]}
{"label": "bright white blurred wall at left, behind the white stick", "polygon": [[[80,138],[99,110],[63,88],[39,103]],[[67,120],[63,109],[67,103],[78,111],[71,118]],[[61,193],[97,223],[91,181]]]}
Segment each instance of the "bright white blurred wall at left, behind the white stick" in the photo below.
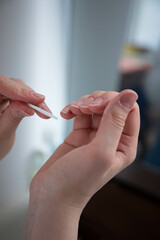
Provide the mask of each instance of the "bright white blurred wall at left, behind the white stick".
{"label": "bright white blurred wall at left, behind the white stick", "polygon": [[[0,1],[0,74],[21,78],[46,95],[55,115],[66,104],[65,9],[65,0]],[[26,191],[29,157],[45,150],[44,135],[57,145],[64,129],[61,119],[34,116],[21,123],[12,151],[0,162],[1,209]]]}

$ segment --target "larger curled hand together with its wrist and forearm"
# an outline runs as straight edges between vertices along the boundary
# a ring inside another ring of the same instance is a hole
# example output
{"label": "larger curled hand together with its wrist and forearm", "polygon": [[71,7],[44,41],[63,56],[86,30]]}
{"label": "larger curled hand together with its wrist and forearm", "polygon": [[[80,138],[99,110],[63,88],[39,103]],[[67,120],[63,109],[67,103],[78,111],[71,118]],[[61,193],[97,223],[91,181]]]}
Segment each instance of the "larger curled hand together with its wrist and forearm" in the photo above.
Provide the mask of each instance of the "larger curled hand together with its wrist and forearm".
{"label": "larger curled hand together with its wrist and forearm", "polygon": [[137,94],[97,91],[69,104],[73,131],[32,180],[24,240],[76,240],[90,198],[131,164],[140,127]]}

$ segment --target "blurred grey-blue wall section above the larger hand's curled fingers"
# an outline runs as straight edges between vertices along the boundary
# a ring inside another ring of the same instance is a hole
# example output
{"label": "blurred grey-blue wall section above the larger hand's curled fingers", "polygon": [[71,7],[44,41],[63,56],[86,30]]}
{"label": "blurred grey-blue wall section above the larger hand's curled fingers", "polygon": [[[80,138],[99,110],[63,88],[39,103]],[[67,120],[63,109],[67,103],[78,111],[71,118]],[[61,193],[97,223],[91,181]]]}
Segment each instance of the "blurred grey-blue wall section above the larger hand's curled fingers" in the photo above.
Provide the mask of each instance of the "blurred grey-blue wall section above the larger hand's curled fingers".
{"label": "blurred grey-blue wall section above the larger hand's curled fingers", "polygon": [[70,100],[95,90],[117,89],[117,64],[131,0],[76,0]]}

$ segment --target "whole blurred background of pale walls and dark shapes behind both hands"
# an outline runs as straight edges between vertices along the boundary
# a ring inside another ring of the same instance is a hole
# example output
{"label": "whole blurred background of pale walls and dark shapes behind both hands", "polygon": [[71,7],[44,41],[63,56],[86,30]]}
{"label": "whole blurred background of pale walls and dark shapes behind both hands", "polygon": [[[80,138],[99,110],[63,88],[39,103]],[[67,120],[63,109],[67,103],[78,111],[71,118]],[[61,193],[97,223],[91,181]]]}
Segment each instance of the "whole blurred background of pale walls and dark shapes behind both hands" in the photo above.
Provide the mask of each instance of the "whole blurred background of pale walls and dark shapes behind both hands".
{"label": "whole blurred background of pale walls and dark shapes behind both hands", "polygon": [[58,121],[24,119],[0,162],[0,239],[19,240],[34,174],[72,127],[59,116],[95,90],[135,90],[135,162],[82,213],[79,238],[160,239],[160,1],[0,0],[0,74],[46,96]]}

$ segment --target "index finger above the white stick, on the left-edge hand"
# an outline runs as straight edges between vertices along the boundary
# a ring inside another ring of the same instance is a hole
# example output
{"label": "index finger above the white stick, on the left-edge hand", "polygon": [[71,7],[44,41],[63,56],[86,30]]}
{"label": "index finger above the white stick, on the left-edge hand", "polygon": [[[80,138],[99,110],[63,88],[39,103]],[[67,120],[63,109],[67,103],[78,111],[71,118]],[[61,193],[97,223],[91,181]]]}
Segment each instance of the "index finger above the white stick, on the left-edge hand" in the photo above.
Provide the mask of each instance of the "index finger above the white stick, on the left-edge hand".
{"label": "index finger above the white stick, on the left-edge hand", "polygon": [[19,81],[0,76],[0,94],[12,99],[33,104],[44,102],[45,97]]}

